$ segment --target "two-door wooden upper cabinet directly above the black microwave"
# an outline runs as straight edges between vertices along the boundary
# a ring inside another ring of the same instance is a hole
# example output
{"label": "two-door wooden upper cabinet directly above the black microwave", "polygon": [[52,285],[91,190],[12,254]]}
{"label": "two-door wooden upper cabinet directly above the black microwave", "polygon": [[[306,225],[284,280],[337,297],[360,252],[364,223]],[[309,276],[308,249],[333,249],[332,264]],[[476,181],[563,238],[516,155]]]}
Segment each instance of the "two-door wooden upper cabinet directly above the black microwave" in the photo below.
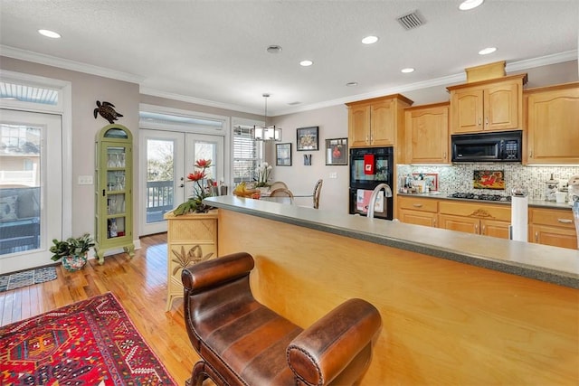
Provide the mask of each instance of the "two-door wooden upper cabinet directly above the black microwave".
{"label": "two-door wooden upper cabinet directly above the black microwave", "polygon": [[523,85],[527,74],[451,86],[451,134],[523,127]]}

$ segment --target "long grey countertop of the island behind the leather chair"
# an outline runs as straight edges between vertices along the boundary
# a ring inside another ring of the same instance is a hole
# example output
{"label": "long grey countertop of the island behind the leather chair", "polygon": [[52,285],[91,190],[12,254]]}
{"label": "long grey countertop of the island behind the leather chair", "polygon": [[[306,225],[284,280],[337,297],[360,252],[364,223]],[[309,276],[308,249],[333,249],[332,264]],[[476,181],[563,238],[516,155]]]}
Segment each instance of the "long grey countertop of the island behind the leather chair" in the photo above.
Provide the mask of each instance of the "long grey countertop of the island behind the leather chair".
{"label": "long grey countertop of the island behind the leather chair", "polygon": [[209,197],[204,202],[228,211],[579,288],[579,250],[489,238],[399,221],[369,220],[344,212],[244,199],[233,195]]}

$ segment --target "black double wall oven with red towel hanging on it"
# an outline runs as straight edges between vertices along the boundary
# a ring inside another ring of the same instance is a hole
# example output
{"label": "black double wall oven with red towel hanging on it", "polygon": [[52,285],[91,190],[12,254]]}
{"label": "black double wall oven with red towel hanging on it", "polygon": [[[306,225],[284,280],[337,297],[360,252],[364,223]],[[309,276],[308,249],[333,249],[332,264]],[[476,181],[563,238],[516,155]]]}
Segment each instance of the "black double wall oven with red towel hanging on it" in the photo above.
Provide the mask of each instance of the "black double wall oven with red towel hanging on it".
{"label": "black double wall oven with red towel hanging on it", "polygon": [[[378,184],[393,185],[394,150],[392,147],[350,149],[349,212],[365,216],[370,195]],[[379,194],[375,218],[393,219],[393,199]]]}

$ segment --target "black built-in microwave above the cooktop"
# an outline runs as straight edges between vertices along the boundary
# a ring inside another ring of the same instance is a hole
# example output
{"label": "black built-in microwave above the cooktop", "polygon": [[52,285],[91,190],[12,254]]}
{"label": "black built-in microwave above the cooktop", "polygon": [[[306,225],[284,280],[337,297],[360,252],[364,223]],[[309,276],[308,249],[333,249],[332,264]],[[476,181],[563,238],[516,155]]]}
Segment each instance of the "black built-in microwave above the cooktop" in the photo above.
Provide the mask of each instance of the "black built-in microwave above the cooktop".
{"label": "black built-in microwave above the cooktop", "polygon": [[451,136],[452,162],[521,162],[521,130]]}

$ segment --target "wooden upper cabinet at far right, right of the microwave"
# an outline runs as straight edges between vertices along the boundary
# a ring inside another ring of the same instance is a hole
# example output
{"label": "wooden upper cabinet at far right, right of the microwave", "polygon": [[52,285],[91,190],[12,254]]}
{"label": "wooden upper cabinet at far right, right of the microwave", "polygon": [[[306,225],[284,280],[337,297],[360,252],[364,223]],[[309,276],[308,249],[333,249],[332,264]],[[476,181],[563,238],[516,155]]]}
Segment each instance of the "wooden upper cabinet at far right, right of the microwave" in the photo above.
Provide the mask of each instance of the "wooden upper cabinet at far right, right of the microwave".
{"label": "wooden upper cabinet at far right, right of the microwave", "polygon": [[532,164],[579,164],[579,82],[525,91]]}

